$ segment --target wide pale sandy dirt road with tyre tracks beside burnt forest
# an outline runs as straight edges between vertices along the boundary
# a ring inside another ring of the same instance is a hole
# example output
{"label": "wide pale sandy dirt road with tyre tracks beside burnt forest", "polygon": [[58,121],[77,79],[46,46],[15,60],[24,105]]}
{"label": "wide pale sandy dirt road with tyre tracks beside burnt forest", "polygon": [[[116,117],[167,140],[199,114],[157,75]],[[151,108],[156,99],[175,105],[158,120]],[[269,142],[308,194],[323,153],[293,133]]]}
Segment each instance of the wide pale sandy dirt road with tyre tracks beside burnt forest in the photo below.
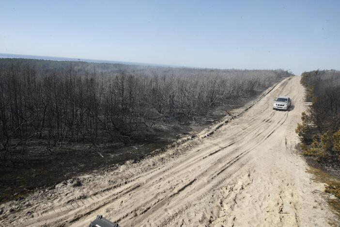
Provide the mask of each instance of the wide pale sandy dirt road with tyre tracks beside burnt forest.
{"label": "wide pale sandy dirt road with tyre tracks beside burnt forest", "polygon": [[[305,109],[299,81],[281,81],[208,137],[82,176],[81,187],[59,184],[8,203],[18,207],[0,226],[84,227],[97,214],[123,227],[327,226],[336,217],[324,185],[313,182],[295,150],[294,129]],[[272,109],[278,95],[293,99],[290,111]]]}

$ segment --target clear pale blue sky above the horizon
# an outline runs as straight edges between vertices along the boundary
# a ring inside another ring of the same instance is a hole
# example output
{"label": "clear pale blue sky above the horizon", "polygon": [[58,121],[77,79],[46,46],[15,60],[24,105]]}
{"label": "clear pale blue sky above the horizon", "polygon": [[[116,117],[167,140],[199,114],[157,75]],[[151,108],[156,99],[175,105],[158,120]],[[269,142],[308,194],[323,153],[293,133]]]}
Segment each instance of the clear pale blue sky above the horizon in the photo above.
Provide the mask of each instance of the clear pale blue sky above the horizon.
{"label": "clear pale blue sky above the horizon", "polygon": [[339,0],[0,0],[0,53],[340,69]]}

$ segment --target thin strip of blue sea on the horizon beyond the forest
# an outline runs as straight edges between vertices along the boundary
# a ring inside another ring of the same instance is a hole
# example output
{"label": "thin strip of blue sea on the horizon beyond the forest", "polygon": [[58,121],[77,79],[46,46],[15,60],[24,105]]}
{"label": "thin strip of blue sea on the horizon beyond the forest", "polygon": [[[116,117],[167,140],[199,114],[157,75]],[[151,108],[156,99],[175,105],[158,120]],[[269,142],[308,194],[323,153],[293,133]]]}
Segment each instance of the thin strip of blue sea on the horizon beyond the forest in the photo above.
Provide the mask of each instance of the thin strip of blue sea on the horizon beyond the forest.
{"label": "thin strip of blue sea on the horizon beyond the forest", "polygon": [[36,55],[24,55],[24,54],[6,54],[6,53],[0,53],[0,58],[25,58],[25,59],[41,59],[41,60],[53,60],[53,61],[111,63],[111,64],[124,64],[124,65],[150,65],[150,66],[163,66],[163,67],[183,67],[183,66],[175,66],[175,65],[158,65],[158,64],[147,64],[147,63],[137,63],[137,62],[119,62],[119,61],[94,60],[94,59],[84,59],[84,58],[61,58],[61,57],[36,56]]}

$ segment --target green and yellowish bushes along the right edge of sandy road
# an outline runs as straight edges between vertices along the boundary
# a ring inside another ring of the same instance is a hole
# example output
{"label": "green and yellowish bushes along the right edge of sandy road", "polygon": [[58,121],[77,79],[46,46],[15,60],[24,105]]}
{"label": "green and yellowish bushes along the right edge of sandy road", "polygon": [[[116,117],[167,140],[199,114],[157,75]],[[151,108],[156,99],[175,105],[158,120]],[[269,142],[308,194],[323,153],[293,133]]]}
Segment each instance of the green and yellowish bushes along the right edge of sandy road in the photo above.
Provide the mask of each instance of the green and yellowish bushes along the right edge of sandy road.
{"label": "green and yellowish bushes along the right edge of sandy road", "polygon": [[[321,166],[338,179],[322,181],[327,183],[326,193],[340,198],[340,71],[304,72],[301,84],[307,88],[306,101],[311,102],[295,129],[300,137],[302,154],[310,165]],[[331,205],[338,209],[340,216],[340,200],[334,201]]]}

